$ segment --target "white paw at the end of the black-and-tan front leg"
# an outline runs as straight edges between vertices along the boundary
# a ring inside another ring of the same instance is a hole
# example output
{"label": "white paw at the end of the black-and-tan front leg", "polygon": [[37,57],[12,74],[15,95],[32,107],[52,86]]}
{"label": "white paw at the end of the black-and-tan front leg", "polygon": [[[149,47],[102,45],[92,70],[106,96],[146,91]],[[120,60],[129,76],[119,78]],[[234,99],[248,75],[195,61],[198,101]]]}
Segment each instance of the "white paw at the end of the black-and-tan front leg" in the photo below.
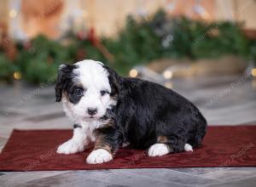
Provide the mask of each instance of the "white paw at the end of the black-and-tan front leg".
{"label": "white paw at the end of the black-and-tan front leg", "polygon": [[107,161],[111,161],[113,159],[112,155],[108,152],[108,150],[98,149],[91,151],[90,155],[87,156],[86,162],[89,164],[98,164]]}

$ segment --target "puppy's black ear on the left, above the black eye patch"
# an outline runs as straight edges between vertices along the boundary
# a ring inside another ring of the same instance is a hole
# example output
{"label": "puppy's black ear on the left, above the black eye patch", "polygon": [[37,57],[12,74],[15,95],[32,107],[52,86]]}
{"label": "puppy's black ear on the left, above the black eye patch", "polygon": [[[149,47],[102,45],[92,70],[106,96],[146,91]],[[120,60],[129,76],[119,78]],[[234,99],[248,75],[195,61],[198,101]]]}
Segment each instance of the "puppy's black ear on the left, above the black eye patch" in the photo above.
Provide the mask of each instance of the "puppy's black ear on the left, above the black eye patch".
{"label": "puppy's black ear on the left, above the black eye patch", "polygon": [[73,77],[73,69],[75,65],[60,65],[58,71],[57,82],[55,85],[55,101],[60,102],[62,98],[62,92],[67,88],[68,82],[71,81]]}

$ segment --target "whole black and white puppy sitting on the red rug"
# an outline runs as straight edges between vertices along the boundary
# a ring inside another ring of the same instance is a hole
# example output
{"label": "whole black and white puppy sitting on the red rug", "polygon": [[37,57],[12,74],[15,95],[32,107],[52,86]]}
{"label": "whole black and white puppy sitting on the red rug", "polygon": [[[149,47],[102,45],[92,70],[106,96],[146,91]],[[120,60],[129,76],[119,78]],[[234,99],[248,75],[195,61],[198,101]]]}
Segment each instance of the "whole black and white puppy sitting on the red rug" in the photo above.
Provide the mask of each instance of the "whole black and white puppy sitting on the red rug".
{"label": "whole black and white puppy sitting on the red rug", "polygon": [[86,161],[111,161],[119,147],[148,149],[148,156],[192,151],[201,144],[207,121],[189,100],[171,89],[137,78],[124,78],[101,62],[86,59],[61,65],[56,101],[73,121],[73,138],[60,154],[95,148]]}

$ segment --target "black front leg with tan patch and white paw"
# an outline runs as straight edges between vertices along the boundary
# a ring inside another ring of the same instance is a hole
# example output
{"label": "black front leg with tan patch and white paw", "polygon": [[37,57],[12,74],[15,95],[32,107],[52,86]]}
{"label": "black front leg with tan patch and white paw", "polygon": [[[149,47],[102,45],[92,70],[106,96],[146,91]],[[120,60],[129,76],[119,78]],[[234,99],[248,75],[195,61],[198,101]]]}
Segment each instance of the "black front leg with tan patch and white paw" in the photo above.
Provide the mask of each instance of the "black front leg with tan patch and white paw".
{"label": "black front leg with tan patch and white paw", "polygon": [[120,133],[113,127],[104,127],[96,130],[96,144],[87,156],[89,164],[99,164],[113,160],[115,152],[122,144]]}

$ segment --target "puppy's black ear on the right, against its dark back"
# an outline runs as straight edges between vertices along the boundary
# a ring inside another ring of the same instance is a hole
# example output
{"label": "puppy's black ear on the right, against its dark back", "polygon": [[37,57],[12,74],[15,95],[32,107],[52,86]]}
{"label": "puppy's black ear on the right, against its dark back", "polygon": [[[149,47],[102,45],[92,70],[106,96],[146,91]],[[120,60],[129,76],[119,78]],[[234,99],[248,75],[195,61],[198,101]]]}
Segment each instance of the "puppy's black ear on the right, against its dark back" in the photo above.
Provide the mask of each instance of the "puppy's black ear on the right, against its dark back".
{"label": "puppy's black ear on the right, against its dark back", "polygon": [[119,77],[116,71],[113,71],[108,66],[105,66],[105,68],[108,71],[108,81],[111,87],[110,95],[113,96],[113,95],[119,94],[121,91],[122,78]]}

